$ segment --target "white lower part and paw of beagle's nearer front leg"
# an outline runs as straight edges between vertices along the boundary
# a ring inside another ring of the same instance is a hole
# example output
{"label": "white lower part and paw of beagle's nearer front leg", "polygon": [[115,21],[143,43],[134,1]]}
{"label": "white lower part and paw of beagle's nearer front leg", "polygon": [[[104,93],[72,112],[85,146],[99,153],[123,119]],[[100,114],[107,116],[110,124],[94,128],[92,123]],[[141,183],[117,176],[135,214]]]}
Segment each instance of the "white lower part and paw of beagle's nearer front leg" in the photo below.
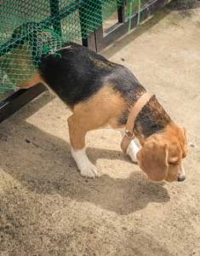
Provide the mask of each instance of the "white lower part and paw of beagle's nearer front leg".
{"label": "white lower part and paw of beagle's nearer front leg", "polygon": [[85,153],[85,149],[81,150],[73,150],[71,148],[71,154],[74,160],[77,163],[77,168],[80,170],[81,175],[83,177],[99,177],[99,173],[97,172],[96,166],[94,166],[87,154]]}

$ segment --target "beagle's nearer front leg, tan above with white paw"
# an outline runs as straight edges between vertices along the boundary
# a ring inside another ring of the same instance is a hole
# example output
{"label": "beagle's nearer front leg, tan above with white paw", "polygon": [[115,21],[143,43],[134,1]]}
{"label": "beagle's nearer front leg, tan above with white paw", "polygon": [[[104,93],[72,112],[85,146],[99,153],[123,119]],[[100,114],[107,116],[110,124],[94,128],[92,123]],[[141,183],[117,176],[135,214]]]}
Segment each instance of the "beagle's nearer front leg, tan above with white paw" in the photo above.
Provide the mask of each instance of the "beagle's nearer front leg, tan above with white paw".
{"label": "beagle's nearer front leg, tan above with white paw", "polygon": [[84,177],[99,176],[96,166],[94,166],[85,152],[85,136],[86,129],[81,124],[80,119],[75,115],[71,115],[68,119],[69,134],[71,141],[71,154],[77,163],[77,167]]}

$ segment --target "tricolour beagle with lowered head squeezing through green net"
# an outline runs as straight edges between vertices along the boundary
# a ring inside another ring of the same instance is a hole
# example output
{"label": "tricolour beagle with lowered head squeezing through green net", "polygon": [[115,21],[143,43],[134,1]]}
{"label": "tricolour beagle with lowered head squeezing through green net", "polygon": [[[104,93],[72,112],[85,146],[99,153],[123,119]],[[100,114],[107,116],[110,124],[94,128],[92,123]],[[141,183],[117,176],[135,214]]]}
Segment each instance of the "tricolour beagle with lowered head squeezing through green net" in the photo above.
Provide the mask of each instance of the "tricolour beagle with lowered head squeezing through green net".
{"label": "tricolour beagle with lowered head squeezing through green net", "polygon": [[[10,53],[9,60],[20,63],[23,51],[27,52],[29,47],[27,43],[20,44],[14,55]],[[23,65],[28,66],[32,59],[26,57]],[[85,151],[87,132],[107,125],[123,129],[146,89],[127,67],[75,43],[63,44],[54,53],[41,55],[38,67],[31,65],[31,72],[31,78],[18,86],[28,88],[43,83],[71,108],[68,118],[71,154],[82,176],[98,176]],[[9,75],[12,79],[12,73]],[[149,96],[143,102],[133,123],[129,132],[141,147],[131,137],[124,152],[153,181],[183,181],[186,130],[174,123],[156,96]]]}

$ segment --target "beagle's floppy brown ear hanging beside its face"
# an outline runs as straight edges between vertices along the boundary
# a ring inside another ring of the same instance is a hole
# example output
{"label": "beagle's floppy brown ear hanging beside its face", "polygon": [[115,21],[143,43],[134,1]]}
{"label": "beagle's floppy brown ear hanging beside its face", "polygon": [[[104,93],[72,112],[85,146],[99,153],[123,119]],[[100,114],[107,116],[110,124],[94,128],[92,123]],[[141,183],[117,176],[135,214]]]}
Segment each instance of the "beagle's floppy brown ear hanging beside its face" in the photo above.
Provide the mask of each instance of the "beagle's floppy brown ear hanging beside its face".
{"label": "beagle's floppy brown ear hanging beside its face", "polygon": [[140,168],[153,181],[162,181],[168,175],[168,146],[159,141],[144,143],[137,154]]}

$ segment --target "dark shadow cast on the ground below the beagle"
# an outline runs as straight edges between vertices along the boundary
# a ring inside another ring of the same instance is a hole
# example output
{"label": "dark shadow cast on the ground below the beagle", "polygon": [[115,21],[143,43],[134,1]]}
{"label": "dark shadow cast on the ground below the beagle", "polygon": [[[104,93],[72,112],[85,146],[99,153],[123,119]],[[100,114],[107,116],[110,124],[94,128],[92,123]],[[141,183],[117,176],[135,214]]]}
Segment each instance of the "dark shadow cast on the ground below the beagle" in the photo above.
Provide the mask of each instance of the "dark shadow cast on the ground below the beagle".
{"label": "dark shadow cast on the ground below the beagle", "polygon": [[[151,202],[169,201],[167,189],[149,183],[139,167],[134,166],[127,178],[81,177],[71,158],[69,143],[25,121],[30,109],[34,112],[41,107],[39,101],[31,102],[31,108],[27,107],[29,111],[25,109],[1,124],[0,165],[4,172],[37,194],[70,197],[118,214],[138,211]],[[89,148],[88,153],[93,162],[97,159],[126,160],[117,150]]]}

